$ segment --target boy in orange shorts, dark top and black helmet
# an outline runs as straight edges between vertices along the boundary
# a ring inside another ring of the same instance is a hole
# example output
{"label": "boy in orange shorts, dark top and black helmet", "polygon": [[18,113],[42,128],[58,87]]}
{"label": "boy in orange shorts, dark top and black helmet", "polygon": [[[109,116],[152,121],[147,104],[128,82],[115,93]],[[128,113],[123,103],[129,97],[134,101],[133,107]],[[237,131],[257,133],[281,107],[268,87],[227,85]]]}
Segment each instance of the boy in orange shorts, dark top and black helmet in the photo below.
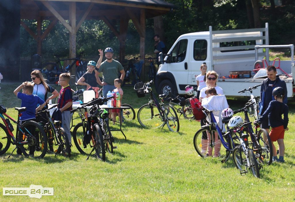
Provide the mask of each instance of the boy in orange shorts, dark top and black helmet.
{"label": "boy in orange shorts, dark top and black helmet", "polygon": [[[254,123],[261,122],[268,116],[269,125],[271,126],[271,132],[269,136],[271,137],[271,143],[273,146],[273,161],[284,163],[284,154],[285,154],[285,144],[284,144],[284,134],[285,131],[288,131],[289,128],[288,122],[288,111],[289,108],[286,104],[283,103],[283,97],[285,96],[285,91],[282,87],[276,87],[273,89],[273,97],[275,100],[272,100],[267,110],[263,115]],[[284,119],[282,119],[282,114],[284,114]],[[278,141],[279,146],[279,155],[277,157],[276,147],[273,142]]]}

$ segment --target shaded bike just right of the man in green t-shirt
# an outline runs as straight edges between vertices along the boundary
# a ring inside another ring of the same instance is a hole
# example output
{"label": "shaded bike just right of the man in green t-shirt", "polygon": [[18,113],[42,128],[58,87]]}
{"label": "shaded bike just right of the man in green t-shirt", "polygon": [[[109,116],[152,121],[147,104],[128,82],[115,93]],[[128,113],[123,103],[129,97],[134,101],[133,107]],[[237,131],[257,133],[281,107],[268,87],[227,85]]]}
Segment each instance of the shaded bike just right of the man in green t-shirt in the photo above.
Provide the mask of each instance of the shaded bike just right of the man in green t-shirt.
{"label": "shaded bike just right of the man in green t-shirt", "polygon": [[143,60],[142,61],[139,61],[138,63],[134,63],[133,64],[133,61],[139,59],[140,57],[137,57],[137,58],[132,58],[128,61],[128,67],[126,69],[126,74],[124,76],[124,80],[123,80],[123,83],[122,83],[122,87],[125,85],[126,82],[130,82],[130,75],[132,74],[133,76],[133,82],[134,84],[135,83],[139,83],[140,82],[140,72],[137,72],[137,69],[141,69],[141,66],[143,64]]}

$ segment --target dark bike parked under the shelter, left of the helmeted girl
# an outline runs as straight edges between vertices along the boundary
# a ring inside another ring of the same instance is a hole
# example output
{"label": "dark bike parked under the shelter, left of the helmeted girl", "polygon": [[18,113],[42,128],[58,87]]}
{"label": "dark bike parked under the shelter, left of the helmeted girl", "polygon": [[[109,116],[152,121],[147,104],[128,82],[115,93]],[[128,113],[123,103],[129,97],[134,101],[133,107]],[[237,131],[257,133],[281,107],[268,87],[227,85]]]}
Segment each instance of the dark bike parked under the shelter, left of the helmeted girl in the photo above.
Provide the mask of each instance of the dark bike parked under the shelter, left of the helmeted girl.
{"label": "dark bike parked under the shelter, left of the helmeted girl", "polygon": [[[58,58],[58,61],[53,63],[45,63],[41,68],[41,73],[44,77],[44,79],[48,80],[48,83],[55,83],[59,79],[59,75],[62,73],[67,73],[70,71],[70,69],[76,65],[76,78],[79,79],[86,71],[87,71],[87,63],[80,60],[81,55],[83,52],[81,52],[76,58],[67,58],[67,59],[60,59],[60,56],[55,55],[55,57]],[[61,64],[61,61],[67,61],[67,60],[73,60],[71,64],[65,67],[63,69],[63,65]]]}

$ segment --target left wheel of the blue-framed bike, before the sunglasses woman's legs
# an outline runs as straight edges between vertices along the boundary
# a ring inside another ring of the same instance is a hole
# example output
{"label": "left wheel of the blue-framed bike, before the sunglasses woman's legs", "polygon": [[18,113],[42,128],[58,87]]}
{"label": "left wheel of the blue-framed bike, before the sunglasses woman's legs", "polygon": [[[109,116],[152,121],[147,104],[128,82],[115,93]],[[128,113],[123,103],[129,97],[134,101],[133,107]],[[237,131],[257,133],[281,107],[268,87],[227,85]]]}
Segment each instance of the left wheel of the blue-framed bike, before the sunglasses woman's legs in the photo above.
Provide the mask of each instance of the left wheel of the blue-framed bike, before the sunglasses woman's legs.
{"label": "left wheel of the blue-framed bike, before the sunglasses woman's legs", "polygon": [[218,132],[214,127],[206,126],[199,129],[194,136],[194,147],[199,156],[203,158],[208,156],[224,158],[229,155],[225,147],[222,146]]}

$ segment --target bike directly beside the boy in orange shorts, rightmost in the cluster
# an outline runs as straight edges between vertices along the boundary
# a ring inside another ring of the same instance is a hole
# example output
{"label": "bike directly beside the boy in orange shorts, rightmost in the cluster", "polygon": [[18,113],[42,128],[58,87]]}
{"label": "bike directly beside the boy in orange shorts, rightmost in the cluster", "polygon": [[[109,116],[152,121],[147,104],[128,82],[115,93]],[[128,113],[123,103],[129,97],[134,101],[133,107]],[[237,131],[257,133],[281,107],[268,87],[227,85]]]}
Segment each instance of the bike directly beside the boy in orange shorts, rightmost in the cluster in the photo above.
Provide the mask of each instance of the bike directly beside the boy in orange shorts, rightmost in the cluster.
{"label": "bike directly beside the boy in orange shorts, rightmost in the cluster", "polygon": [[[245,105],[245,107],[240,110],[235,110],[234,114],[238,113],[238,115],[241,116],[246,122],[250,122],[248,109],[253,107],[253,105],[255,105],[255,102]],[[259,124],[255,124],[254,132],[252,125],[249,124],[243,128],[242,132],[249,134],[251,139],[251,142],[249,143],[250,148],[253,150],[253,152],[255,152],[255,156],[259,159],[260,163],[270,165],[273,159],[271,138],[265,129],[261,128],[258,130],[259,127]]]}

